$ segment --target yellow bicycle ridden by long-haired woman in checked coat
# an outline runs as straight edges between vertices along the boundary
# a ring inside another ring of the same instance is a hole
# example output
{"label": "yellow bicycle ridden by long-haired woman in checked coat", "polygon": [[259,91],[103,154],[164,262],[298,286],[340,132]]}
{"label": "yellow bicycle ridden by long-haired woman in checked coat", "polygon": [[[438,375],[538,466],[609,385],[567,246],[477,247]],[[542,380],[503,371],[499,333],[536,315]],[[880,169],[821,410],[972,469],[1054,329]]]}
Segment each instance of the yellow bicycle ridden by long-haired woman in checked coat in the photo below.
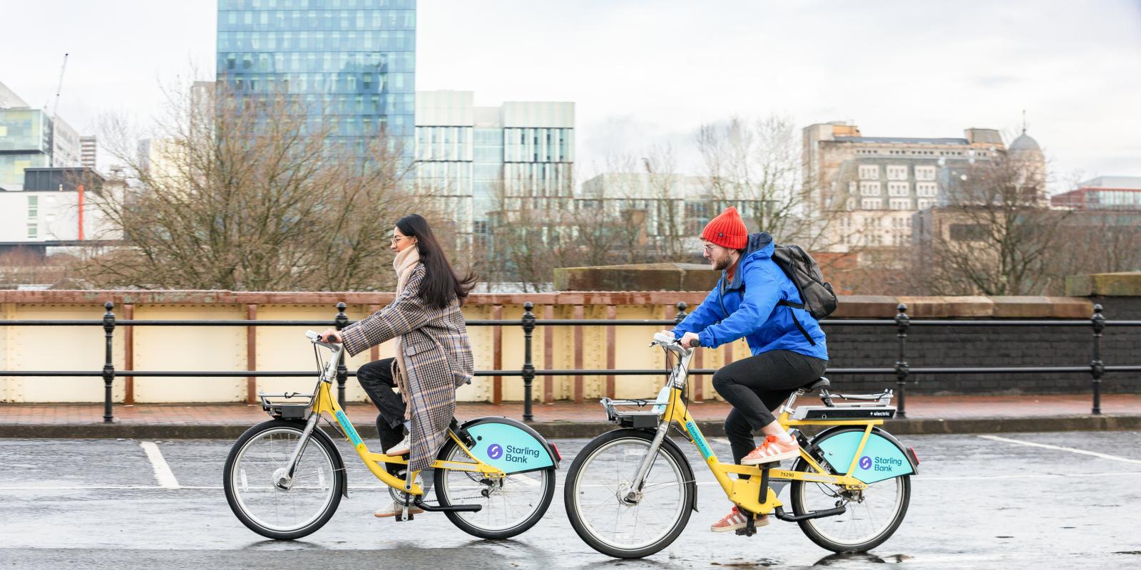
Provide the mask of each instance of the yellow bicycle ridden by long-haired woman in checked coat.
{"label": "yellow bicycle ridden by long-haired woman in checked coat", "polygon": [[226,500],[250,530],[280,540],[307,536],[329,522],[341,497],[348,497],[345,462],[333,439],[318,427],[323,415],[326,422],[329,417],[335,422],[330,422],[333,431],[351,443],[365,467],[403,505],[397,521],[411,520],[408,508],[414,505],[443,512],[470,535],[500,539],[519,535],[542,519],[555,496],[555,470],[561,459],[542,435],[505,417],[463,424],[453,420],[448,439],[431,465],[436,491],[431,502],[421,484],[428,470],[418,478],[420,472],[406,469],[407,455],[370,451],[330,394],[343,345],[322,342],[313,331],[306,336],[321,370],[317,385],[311,393],[261,393],[261,407],[273,420],[246,430],[226,458]]}

